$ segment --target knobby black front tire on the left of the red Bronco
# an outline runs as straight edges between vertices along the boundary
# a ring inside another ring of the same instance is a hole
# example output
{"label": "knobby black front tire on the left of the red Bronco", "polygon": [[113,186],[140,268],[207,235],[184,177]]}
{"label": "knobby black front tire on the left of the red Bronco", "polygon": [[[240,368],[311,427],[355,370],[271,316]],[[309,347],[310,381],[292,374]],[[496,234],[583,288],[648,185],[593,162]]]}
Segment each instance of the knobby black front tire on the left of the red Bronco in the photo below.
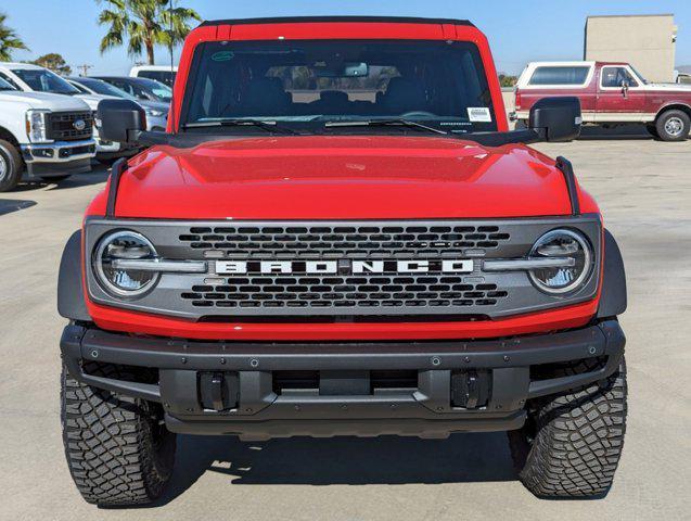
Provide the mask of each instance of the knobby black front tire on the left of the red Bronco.
{"label": "knobby black front tire on the left of the red Bronco", "polygon": [[[91,374],[118,371],[91,365]],[[159,404],[119,396],[62,372],[61,419],[69,472],[81,493],[99,506],[146,505],[172,474],[176,437],[163,424]]]}

